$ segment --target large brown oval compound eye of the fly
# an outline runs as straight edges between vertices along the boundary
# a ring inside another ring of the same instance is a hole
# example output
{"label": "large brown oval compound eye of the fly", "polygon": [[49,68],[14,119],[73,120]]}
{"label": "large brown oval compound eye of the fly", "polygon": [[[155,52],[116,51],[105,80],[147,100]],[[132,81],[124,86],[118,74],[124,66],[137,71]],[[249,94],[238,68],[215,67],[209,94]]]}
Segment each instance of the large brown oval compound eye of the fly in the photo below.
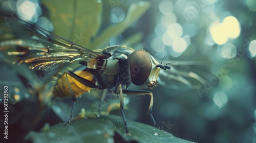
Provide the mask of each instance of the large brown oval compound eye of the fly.
{"label": "large brown oval compound eye of the fly", "polygon": [[150,56],[144,51],[135,51],[130,55],[129,63],[132,83],[144,84],[152,69]]}

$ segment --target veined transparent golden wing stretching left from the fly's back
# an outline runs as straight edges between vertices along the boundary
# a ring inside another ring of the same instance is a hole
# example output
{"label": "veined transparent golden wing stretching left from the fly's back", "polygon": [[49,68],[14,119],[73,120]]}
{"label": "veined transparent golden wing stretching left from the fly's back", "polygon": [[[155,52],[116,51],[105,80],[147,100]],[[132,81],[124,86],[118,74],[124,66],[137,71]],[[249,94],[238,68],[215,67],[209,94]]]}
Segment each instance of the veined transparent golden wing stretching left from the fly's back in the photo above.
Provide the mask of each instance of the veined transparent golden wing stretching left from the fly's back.
{"label": "veined transparent golden wing stretching left from the fly's back", "polygon": [[33,23],[17,18],[13,13],[0,11],[0,51],[37,70],[54,70],[64,63],[88,58],[102,59],[99,52],[86,49],[44,30]]}

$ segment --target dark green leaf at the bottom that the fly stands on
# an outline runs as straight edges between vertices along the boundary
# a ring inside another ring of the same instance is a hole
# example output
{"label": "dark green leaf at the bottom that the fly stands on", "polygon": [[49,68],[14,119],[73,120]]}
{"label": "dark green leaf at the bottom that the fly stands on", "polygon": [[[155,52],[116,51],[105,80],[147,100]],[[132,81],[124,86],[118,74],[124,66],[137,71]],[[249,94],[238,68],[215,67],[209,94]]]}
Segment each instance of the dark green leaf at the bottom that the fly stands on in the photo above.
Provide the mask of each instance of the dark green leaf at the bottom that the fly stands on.
{"label": "dark green leaf at the bottom that the fly stands on", "polygon": [[[26,140],[33,142],[114,142],[114,133],[118,133],[126,141],[138,142],[181,142],[190,141],[163,132],[153,126],[127,120],[131,136],[124,136],[125,130],[122,118],[117,115],[101,115],[95,119],[74,120],[67,127],[55,125],[43,132],[30,132]],[[191,142],[190,142],[191,143]]]}

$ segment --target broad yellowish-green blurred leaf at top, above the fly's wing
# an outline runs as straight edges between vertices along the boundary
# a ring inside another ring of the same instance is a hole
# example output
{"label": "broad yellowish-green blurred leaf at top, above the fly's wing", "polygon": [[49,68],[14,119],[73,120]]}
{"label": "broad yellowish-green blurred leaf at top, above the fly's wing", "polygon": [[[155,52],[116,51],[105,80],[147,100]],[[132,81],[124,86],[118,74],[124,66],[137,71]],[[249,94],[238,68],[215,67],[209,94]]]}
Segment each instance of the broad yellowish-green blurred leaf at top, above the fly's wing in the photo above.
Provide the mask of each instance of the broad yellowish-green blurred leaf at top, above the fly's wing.
{"label": "broad yellowish-green blurred leaf at top, above the fly's wing", "polygon": [[102,3],[97,0],[50,1],[49,9],[54,33],[77,44],[87,46],[101,25]]}

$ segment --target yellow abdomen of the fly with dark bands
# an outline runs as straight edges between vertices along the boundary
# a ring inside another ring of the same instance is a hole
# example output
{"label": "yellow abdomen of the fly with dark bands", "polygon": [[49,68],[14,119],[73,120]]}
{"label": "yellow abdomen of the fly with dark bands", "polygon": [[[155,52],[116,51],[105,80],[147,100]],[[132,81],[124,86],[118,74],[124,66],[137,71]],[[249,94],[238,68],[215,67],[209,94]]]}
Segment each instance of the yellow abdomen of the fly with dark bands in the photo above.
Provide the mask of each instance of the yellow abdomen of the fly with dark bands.
{"label": "yellow abdomen of the fly with dark bands", "polygon": [[[89,81],[93,81],[93,75],[89,71],[78,70],[74,72],[76,75],[87,79]],[[80,96],[84,92],[88,92],[91,88],[85,86],[68,75],[69,81],[67,81],[66,74],[63,74],[60,78],[58,78],[56,85],[54,87],[53,93],[56,97],[70,97],[70,90],[67,82],[70,83],[72,91],[75,96]]]}

